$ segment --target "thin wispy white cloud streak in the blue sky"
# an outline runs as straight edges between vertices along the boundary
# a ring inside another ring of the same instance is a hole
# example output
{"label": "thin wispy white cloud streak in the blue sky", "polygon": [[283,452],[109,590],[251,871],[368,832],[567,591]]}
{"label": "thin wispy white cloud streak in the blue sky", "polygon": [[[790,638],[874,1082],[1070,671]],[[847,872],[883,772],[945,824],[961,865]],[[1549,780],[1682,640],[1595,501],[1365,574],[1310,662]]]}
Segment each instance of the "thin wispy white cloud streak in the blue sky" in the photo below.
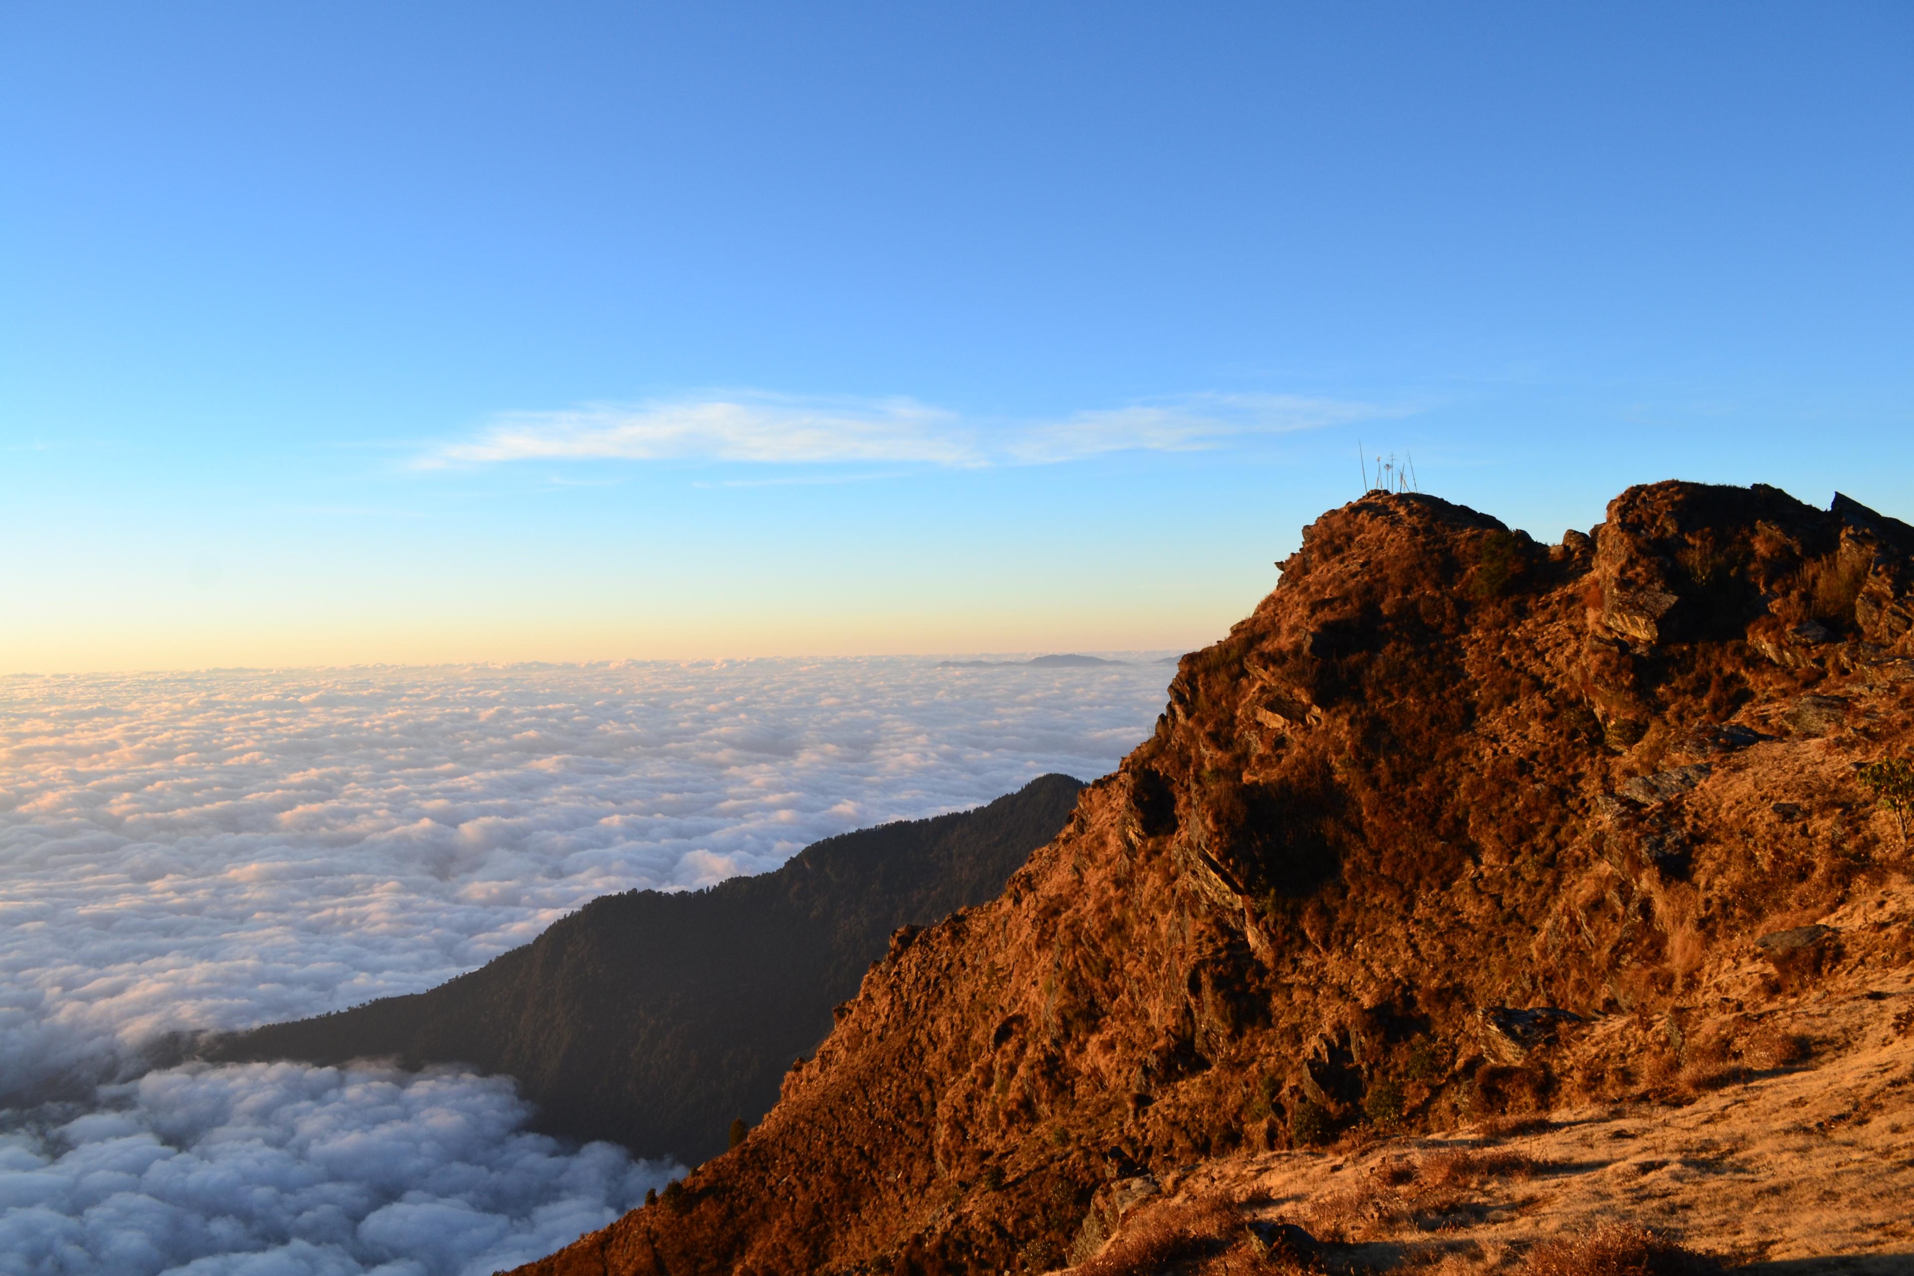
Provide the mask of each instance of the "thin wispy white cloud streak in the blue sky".
{"label": "thin wispy white cloud streak in the blue sky", "polygon": [[970,419],[907,398],[708,394],[501,413],[473,438],[425,451],[448,469],[507,461],[735,461],[758,465],[1049,465],[1112,451],[1200,451],[1256,436],[1403,415],[1403,407],[1300,394],[1189,394],[1060,419]]}

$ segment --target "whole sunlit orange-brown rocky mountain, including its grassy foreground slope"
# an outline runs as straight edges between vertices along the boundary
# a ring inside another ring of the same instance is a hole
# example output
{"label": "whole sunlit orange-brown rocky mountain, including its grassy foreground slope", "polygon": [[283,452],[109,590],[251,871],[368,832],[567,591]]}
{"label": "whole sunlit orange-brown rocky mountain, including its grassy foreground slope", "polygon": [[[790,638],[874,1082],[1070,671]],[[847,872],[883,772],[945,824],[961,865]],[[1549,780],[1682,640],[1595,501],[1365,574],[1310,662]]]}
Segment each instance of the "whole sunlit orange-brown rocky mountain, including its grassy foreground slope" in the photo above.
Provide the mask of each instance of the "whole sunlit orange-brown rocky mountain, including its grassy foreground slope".
{"label": "whole sunlit orange-brown rocky mountain, including its grassy foreground slope", "polygon": [[1906,1255],[1914,890],[1862,767],[1914,744],[1910,587],[1914,528],[1767,486],[1558,545],[1332,511],[748,1138],[523,1270]]}

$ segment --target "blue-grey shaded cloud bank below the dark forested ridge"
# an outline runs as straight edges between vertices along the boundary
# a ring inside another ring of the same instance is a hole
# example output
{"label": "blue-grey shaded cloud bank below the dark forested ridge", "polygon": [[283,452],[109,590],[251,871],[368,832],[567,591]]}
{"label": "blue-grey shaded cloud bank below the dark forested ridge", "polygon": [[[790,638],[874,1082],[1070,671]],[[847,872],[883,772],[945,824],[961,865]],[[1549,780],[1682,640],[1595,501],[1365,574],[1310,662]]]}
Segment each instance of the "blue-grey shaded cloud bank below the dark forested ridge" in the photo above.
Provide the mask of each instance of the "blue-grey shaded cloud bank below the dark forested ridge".
{"label": "blue-grey shaded cloud bank below the dark forested ridge", "polygon": [[147,1073],[0,1134],[0,1272],[454,1276],[536,1259],[662,1186],[519,1129],[503,1079],[251,1064]]}

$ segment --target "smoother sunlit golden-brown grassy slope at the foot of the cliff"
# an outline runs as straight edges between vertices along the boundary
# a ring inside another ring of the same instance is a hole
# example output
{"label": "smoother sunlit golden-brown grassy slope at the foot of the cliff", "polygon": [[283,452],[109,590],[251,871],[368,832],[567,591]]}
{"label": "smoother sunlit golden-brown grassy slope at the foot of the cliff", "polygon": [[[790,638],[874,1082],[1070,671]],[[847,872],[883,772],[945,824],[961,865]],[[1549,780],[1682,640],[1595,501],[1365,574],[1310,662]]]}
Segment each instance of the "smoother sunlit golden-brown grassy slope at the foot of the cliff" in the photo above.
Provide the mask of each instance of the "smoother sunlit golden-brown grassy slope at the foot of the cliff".
{"label": "smoother sunlit golden-brown grassy slope at the foot of the cliff", "polygon": [[[1788,763],[1788,744],[1765,748],[1776,756],[1749,773]],[[1914,882],[1891,878],[1826,914],[1839,953],[1795,991],[1769,989],[1774,964],[1751,945],[1719,945],[1677,1008],[1684,1058],[1667,1020],[1644,1033],[1635,1016],[1566,1046],[1640,1067],[1654,1077],[1644,1102],[1236,1152],[1129,1180],[1125,1209],[1114,1190],[1102,1201],[1112,1240],[1076,1270],[1164,1270],[1124,1259],[1162,1232],[1160,1219],[1198,1211],[1189,1230],[1200,1243],[1185,1243],[1194,1261],[1181,1268],[1191,1276],[1263,1272],[1246,1224],[1303,1228],[1319,1242],[1307,1257],[1332,1270],[1592,1276],[1548,1266],[1548,1247],[1642,1228],[1774,1276],[1914,1270]],[[1723,1067],[1725,1041],[1788,1043],[1793,1062]]]}

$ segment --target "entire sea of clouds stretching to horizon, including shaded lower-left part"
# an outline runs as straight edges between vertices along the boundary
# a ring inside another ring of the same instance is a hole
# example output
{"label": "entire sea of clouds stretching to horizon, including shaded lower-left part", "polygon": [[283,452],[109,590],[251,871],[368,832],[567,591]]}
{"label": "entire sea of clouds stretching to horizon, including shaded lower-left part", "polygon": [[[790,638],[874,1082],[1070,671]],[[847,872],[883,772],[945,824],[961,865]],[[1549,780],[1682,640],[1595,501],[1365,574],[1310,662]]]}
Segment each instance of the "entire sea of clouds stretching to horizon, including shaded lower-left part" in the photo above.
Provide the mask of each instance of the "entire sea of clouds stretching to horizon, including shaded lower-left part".
{"label": "entire sea of clouds stretching to horizon, including shaded lower-left part", "polygon": [[1106,773],[1171,670],[754,660],[0,679],[0,1274],[492,1272],[681,1167],[505,1079],[142,1060],[588,899]]}

